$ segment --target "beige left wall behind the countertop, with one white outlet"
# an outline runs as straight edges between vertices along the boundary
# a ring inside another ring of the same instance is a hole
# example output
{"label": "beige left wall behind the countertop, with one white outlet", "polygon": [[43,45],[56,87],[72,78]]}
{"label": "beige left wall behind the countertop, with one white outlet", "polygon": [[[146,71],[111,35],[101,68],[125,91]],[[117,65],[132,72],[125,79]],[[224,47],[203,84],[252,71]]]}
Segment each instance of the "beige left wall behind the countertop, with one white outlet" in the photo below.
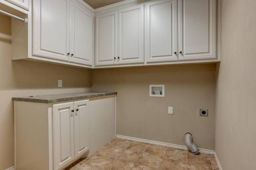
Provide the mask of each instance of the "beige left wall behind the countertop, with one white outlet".
{"label": "beige left wall behind the countertop, with one white outlet", "polygon": [[[0,15],[0,169],[14,166],[12,97],[90,90],[90,70],[11,60],[11,20]],[[63,87],[58,88],[58,79]]]}

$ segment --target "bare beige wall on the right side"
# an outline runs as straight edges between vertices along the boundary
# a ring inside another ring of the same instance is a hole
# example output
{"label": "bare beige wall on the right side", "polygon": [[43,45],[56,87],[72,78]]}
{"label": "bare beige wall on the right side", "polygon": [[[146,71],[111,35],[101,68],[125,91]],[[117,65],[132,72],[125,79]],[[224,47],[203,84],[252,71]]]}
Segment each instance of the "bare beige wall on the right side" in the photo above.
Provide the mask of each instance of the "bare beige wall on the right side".
{"label": "bare beige wall on the right side", "polygon": [[222,0],[215,149],[224,170],[256,167],[255,9],[255,0]]}

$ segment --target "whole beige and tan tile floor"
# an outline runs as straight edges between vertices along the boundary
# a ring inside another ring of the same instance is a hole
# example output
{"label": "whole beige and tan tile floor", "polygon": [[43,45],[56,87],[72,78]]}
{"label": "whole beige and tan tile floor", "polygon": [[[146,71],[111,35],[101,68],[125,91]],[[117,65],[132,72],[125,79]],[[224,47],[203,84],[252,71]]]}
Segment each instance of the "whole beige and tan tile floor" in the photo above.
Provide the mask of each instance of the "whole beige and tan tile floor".
{"label": "whole beige and tan tile floor", "polygon": [[214,155],[115,138],[65,170],[219,170]]}

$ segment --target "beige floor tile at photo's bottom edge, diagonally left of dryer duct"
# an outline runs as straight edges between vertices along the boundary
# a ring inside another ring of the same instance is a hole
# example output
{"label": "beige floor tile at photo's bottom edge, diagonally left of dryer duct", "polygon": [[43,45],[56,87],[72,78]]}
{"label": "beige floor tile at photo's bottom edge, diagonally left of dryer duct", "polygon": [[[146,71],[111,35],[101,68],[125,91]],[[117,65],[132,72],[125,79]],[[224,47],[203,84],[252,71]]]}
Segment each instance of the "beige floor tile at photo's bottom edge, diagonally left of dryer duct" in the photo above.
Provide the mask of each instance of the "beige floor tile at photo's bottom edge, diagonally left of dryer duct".
{"label": "beige floor tile at photo's bottom edge, diagonally left of dryer duct", "polygon": [[164,158],[159,170],[186,170],[186,162]]}

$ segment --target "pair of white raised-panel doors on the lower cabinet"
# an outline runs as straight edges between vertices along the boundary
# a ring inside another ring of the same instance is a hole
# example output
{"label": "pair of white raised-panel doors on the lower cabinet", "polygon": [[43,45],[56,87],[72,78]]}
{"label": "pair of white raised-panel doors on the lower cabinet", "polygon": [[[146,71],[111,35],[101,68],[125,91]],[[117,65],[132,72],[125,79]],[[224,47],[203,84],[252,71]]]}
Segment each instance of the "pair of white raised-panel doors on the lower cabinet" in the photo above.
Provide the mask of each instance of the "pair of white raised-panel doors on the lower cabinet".
{"label": "pair of white raised-panel doors on the lower cabinet", "polygon": [[89,101],[60,103],[53,109],[54,170],[63,168],[89,150]]}

